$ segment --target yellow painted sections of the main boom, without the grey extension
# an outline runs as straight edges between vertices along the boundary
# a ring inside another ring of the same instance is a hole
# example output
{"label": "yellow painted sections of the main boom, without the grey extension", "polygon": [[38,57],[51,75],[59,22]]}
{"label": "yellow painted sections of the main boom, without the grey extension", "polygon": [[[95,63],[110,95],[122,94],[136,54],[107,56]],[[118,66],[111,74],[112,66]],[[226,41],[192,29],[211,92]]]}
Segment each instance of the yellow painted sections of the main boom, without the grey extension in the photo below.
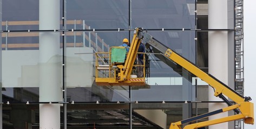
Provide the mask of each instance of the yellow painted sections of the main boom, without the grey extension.
{"label": "yellow painted sections of the main boom, without the grey extension", "polygon": [[[187,69],[189,72],[191,72],[195,76],[201,78],[201,80],[211,85],[211,87],[215,89],[214,96],[224,94],[228,98],[232,99],[235,103],[237,103],[235,105],[223,108],[222,109],[223,112],[234,110],[234,109],[239,109],[241,111],[240,114],[236,114],[234,116],[228,116],[225,118],[219,118],[219,119],[208,120],[200,123],[190,124],[185,126],[183,129],[205,127],[213,124],[219,124],[219,123],[224,123],[227,121],[238,120],[238,119],[244,119],[244,122],[246,124],[254,124],[253,103],[245,102],[245,99],[243,97],[235,94],[235,92],[229,90],[227,87],[225,87],[225,85],[215,80],[215,78],[209,76],[204,71],[196,67],[194,64],[182,58],[182,56],[180,56],[179,54],[176,54],[175,52],[173,52],[171,49],[167,49],[165,56],[170,60],[174,61],[175,63],[178,63],[180,66]],[[172,123],[170,125],[170,129],[180,129],[181,128],[180,126],[181,126],[181,121],[178,121],[176,123]]]}

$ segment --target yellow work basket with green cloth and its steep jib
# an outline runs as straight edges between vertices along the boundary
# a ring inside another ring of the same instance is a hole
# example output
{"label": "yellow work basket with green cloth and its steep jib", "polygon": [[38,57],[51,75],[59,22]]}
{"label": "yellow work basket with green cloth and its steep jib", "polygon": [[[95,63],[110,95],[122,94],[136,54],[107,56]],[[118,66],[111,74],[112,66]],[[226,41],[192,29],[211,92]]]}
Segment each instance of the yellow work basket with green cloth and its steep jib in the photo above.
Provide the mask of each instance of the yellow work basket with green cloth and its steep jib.
{"label": "yellow work basket with green cloth and its steep jib", "polygon": [[[145,53],[138,53],[142,30],[136,28],[129,52],[126,47],[111,47],[109,52],[96,53],[97,85],[143,86],[145,83]],[[142,64],[136,63],[137,54],[143,54]],[[139,67],[143,76],[137,76]]]}

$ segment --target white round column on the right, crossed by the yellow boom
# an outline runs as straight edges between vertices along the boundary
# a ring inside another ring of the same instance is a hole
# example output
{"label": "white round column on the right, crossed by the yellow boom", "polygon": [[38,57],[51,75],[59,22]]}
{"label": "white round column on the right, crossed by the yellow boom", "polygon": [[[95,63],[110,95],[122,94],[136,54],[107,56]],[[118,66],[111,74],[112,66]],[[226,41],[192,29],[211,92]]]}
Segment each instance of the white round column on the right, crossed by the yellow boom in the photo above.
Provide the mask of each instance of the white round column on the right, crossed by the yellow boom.
{"label": "white round column on the right, crossed by the yellow boom", "polygon": [[[227,0],[208,1],[208,28],[227,28]],[[225,31],[208,32],[209,74],[218,78],[221,82],[228,83],[228,33]],[[209,101],[221,101],[215,97],[213,88],[209,87]],[[226,107],[225,103],[209,103],[209,112]],[[209,117],[217,119],[227,117],[227,112]],[[209,126],[209,129],[228,128],[227,123]]]}

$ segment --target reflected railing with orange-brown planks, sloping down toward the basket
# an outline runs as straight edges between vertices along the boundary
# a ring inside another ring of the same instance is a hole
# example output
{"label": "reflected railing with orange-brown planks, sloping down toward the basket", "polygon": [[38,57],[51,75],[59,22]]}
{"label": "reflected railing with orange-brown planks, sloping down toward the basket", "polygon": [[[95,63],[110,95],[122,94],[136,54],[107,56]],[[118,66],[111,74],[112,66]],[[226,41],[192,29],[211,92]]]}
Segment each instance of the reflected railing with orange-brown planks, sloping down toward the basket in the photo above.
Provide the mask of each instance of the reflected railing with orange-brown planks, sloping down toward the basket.
{"label": "reflected railing with orange-brown planks, sloping down toward the basket", "polygon": [[[60,24],[62,24],[62,21],[60,21]],[[101,38],[97,32],[95,32],[95,29],[91,29],[90,26],[86,25],[84,20],[67,20],[65,22],[67,25],[74,25],[74,29],[72,29],[71,32],[66,32],[65,36],[73,36],[74,42],[67,42],[67,47],[93,47],[96,52],[104,52],[105,49],[109,49],[109,45],[104,42],[104,39]],[[17,44],[15,42],[8,41],[8,38],[10,37],[39,37],[39,32],[10,32],[9,28],[11,26],[28,26],[28,25],[39,25],[39,21],[2,21],[2,26],[5,26],[6,33],[2,33],[2,38],[5,38],[5,44],[2,44],[3,50],[8,50],[8,48],[39,48],[39,43],[25,43],[25,44]],[[88,34],[86,34],[85,31],[83,32],[75,32],[74,30],[77,30],[81,28],[82,30],[88,30]],[[92,32],[91,32],[92,31]],[[82,42],[77,42],[77,37],[82,37]],[[86,41],[88,42],[88,45],[86,44]],[[100,44],[99,44],[100,43]],[[61,46],[63,46],[61,44]]]}

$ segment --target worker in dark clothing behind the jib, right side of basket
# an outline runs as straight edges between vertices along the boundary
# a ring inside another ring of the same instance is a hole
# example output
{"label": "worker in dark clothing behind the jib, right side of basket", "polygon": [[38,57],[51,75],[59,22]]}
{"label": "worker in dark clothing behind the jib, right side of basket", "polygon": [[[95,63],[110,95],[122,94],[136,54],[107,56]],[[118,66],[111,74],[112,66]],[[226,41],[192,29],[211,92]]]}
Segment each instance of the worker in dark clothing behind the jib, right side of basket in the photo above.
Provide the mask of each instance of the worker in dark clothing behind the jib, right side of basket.
{"label": "worker in dark clothing behind the jib, right side of basket", "polygon": [[[142,42],[140,42],[138,52],[146,52],[146,47]],[[144,60],[143,54],[141,54],[141,53],[137,54],[137,64],[143,65],[143,60]],[[143,67],[142,66],[137,67],[137,77],[139,77],[139,78],[143,77]]]}

